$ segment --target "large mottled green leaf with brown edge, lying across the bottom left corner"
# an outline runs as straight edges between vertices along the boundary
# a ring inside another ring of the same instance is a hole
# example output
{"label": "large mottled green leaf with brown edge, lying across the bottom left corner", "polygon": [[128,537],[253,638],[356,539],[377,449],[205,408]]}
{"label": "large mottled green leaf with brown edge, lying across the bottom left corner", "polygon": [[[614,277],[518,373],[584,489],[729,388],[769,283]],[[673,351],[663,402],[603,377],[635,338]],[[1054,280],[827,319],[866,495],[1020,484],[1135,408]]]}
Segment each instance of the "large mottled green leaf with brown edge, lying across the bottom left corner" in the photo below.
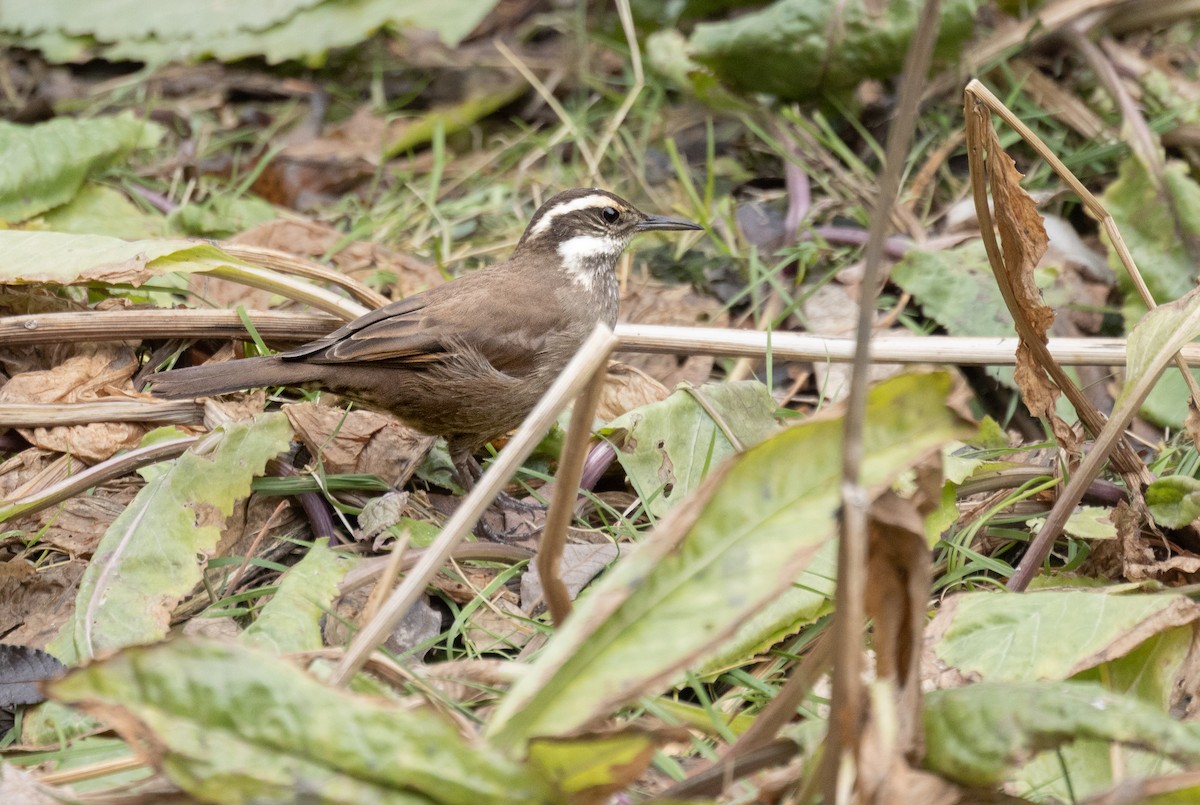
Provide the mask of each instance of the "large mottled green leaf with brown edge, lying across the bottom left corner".
{"label": "large mottled green leaf with brown edge, lying across the bottom left corner", "polygon": [[347,693],[236,643],[130,648],[50,695],[119,729],[136,719],[163,747],[163,771],[205,801],[290,803],[299,791],[348,805],[554,801],[528,769],[433,710]]}

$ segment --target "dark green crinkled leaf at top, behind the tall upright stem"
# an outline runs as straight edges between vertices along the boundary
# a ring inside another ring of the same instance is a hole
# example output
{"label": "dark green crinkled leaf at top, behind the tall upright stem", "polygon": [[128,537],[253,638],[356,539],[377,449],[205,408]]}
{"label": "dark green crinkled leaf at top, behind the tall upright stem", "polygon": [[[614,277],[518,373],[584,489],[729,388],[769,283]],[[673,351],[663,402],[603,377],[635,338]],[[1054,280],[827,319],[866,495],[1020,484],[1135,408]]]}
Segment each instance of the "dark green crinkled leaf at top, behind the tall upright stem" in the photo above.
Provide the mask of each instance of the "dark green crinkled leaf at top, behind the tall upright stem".
{"label": "dark green crinkled leaf at top, behind the tall upright stem", "polygon": [[[696,25],[692,58],[744,92],[803,101],[892,78],[917,26],[922,0],[776,0],[720,23]],[[971,35],[976,0],[942,4],[937,55],[953,59]]]}

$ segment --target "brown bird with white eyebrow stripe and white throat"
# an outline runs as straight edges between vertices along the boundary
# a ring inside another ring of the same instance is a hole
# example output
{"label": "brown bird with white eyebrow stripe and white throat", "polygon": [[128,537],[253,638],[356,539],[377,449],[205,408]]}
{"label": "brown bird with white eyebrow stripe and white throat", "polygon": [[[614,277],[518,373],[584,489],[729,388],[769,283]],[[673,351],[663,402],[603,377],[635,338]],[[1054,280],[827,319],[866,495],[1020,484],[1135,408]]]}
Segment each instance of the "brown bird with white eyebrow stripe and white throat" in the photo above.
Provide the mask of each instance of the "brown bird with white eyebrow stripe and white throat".
{"label": "brown bird with white eyebrow stripe and white throat", "polygon": [[617,323],[617,259],[641,232],[701,229],[602,190],[546,202],[512,257],[385,305],[304,347],[151,376],[180,398],[319,388],[446,438],[469,485],[473,453],[515,428],[598,322]]}

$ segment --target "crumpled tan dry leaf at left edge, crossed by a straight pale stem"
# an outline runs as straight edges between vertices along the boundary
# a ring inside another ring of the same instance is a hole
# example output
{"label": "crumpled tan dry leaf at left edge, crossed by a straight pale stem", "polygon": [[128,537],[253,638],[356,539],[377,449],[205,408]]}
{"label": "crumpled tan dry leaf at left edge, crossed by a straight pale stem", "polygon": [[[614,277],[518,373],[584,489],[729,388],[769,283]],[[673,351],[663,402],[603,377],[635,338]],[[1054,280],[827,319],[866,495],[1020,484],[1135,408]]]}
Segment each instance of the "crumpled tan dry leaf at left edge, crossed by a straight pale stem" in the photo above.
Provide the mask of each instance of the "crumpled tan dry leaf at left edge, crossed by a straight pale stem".
{"label": "crumpled tan dry leaf at left edge, crossed by a straight pale stem", "polygon": [[[132,378],[138,370],[132,350],[120,343],[76,344],[73,354],[58,366],[25,372],[0,389],[5,403],[89,403],[131,400]],[[130,422],[18,428],[32,445],[68,452],[88,462],[109,458],[138,445],[146,428]]]}

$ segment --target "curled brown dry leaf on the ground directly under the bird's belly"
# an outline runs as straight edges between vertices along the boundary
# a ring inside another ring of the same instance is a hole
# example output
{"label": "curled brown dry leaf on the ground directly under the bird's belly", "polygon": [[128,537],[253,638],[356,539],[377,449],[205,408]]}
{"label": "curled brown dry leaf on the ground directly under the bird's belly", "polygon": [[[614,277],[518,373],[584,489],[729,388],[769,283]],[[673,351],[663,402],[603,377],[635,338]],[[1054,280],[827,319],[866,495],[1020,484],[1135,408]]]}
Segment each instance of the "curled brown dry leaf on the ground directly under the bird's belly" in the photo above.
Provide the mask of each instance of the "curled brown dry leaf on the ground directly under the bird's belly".
{"label": "curled brown dry leaf on the ground directly under the bird's belly", "polygon": [[413,476],[433,445],[433,437],[368,410],[300,403],[283,413],[328,473],[370,473],[394,488]]}

